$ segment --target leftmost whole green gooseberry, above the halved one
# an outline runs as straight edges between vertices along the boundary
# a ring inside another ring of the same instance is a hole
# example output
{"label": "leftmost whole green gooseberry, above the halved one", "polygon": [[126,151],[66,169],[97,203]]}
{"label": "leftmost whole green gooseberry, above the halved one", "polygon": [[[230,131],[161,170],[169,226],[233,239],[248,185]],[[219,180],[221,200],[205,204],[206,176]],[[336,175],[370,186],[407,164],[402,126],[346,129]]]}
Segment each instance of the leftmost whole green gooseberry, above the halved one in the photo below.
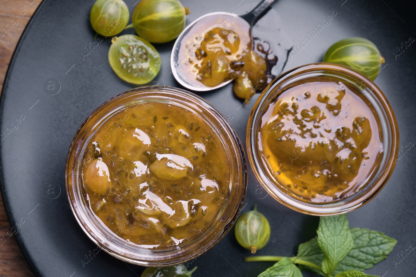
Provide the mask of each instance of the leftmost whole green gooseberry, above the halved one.
{"label": "leftmost whole green gooseberry, above the halved one", "polygon": [[129,21],[129,9],[123,0],[97,0],[89,14],[92,28],[105,37],[119,34]]}

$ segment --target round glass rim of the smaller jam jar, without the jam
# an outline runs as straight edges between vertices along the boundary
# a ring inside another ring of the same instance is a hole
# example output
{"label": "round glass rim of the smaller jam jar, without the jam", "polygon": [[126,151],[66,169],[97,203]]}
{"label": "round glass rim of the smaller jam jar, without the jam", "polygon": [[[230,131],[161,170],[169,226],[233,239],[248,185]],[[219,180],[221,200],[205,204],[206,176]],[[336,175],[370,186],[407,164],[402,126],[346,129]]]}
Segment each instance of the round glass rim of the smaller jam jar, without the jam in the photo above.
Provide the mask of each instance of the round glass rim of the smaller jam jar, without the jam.
{"label": "round glass rim of the smaller jam jar, without the jam", "polygon": [[[366,182],[365,187],[341,201],[310,203],[289,196],[270,180],[258,157],[256,136],[261,116],[266,108],[265,106],[278,92],[285,91],[285,86],[312,76],[330,76],[339,81],[348,81],[349,84],[354,84],[360,91],[366,92],[366,94],[362,95],[369,99],[370,103],[376,107],[378,113],[381,113],[378,115],[382,125],[384,155],[379,169],[374,177]],[[358,71],[345,66],[329,63],[314,63],[286,71],[267,86],[265,92],[260,95],[251,110],[246,130],[246,144],[248,148],[248,159],[253,168],[253,172],[268,194],[295,211],[314,216],[329,216],[350,212],[363,206],[373,199],[384,187],[393,172],[398,157],[399,128],[389,101],[373,81]]]}

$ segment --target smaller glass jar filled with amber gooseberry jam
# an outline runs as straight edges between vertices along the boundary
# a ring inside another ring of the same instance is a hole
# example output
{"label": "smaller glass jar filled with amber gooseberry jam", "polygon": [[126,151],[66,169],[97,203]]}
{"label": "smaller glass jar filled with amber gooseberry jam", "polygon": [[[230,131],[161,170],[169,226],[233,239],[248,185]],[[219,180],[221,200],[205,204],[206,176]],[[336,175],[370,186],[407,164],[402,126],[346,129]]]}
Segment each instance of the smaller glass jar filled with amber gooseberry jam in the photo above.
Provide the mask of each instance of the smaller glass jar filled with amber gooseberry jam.
{"label": "smaller glass jar filled with amber gooseberry jam", "polygon": [[327,63],[272,81],[247,125],[262,195],[315,216],[353,211],[379,193],[393,172],[398,141],[394,112],[376,84]]}

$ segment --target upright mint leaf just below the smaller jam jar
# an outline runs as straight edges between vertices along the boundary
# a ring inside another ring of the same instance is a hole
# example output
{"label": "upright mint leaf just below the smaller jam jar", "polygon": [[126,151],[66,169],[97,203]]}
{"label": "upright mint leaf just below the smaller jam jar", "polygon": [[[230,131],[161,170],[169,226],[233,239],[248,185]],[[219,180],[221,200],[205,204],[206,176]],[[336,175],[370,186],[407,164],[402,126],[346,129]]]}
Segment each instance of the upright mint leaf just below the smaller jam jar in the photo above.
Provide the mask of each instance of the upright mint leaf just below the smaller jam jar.
{"label": "upright mint leaf just below the smaller jam jar", "polygon": [[322,271],[331,274],[338,263],[352,250],[354,240],[349,230],[345,213],[337,216],[323,216],[317,230],[318,245],[324,253]]}

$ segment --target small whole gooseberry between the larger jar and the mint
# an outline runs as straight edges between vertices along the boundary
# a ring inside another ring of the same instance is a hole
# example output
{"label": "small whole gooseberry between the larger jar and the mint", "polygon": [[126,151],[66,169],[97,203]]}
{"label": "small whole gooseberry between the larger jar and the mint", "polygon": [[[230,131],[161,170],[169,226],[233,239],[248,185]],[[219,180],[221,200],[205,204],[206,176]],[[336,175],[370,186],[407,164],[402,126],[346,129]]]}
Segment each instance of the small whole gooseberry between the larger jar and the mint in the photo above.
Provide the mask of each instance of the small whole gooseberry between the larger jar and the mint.
{"label": "small whole gooseberry between the larger jar and the mint", "polygon": [[235,223],[235,238],[245,249],[254,254],[262,249],[270,239],[270,224],[267,218],[257,211],[248,211]]}

